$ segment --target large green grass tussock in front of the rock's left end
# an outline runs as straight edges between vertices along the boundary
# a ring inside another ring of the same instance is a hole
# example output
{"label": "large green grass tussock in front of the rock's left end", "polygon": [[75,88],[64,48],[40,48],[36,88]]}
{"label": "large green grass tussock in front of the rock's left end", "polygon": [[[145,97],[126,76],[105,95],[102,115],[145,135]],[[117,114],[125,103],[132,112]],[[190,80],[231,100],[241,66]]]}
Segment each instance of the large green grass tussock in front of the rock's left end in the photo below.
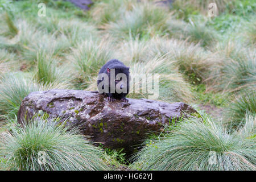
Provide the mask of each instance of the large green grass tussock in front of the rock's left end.
{"label": "large green grass tussock in front of the rock's left end", "polygon": [[105,170],[103,152],[77,129],[34,119],[1,136],[1,157],[9,170]]}

